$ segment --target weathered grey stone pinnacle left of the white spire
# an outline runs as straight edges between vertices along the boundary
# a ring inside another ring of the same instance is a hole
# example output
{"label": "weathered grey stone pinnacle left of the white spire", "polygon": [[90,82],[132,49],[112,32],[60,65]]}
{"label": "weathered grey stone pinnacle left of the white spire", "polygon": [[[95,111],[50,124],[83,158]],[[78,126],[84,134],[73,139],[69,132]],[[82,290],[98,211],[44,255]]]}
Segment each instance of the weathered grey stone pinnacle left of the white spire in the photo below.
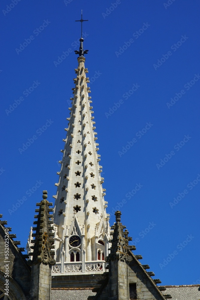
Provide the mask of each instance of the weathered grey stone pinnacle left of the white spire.
{"label": "weathered grey stone pinnacle left of the white spire", "polygon": [[47,201],[46,190],[43,190],[42,197],[43,200],[36,203],[36,206],[39,206],[36,209],[36,212],[38,212],[37,221],[34,221],[37,227],[33,228],[36,233],[32,233],[32,236],[35,237],[31,241],[34,244],[31,247],[33,253],[29,253],[33,258],[27,261],[28,265],[31,266],[30,300],[48,300],[51,298],[49,286],[51,286],[52,265],[55,265],[55,259],[52,258],[54,251],[51,251],[54,248],[51,238],[54,236],[54,233],[52,233],[53,226],[49,225],[53,223],[51,220],[53,215],[49,214],[53,210],[49,208],[52,203]]}

